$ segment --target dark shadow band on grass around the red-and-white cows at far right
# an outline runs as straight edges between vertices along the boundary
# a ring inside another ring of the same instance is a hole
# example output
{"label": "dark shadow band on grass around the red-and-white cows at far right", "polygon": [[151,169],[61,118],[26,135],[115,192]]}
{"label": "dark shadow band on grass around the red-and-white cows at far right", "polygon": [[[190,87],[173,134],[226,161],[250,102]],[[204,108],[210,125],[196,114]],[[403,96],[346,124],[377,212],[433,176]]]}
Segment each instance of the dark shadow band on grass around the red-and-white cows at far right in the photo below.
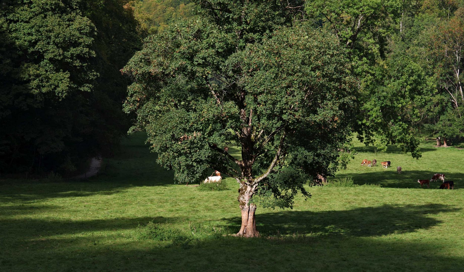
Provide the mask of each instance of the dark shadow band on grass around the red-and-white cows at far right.
{"label": "dark shadow band on grass around the red-and-white cows at far right", "polygon": [[[437,173],[437,172],[435,172]],[[427,170],[405,170],[401,174],[396,174],[396,168],[383,169],[379,172],[364,172],[364,173],[349,173],[337,174],[330,179],[336,180],[337,178],[352,177],[355,184],[380,184],[386,188],[419,188],[420,184],[417,180],[425,180],[432,177],[434,172]],[[464,173],[445,173],[445,181],[454,181],[454,189],[459,189],[460,181]],[[459,177],[459,178],[458,178]],[[430,188],[439,188],[441,181],[430,182]],[[425,184],[423,188],[427,188]]]}

